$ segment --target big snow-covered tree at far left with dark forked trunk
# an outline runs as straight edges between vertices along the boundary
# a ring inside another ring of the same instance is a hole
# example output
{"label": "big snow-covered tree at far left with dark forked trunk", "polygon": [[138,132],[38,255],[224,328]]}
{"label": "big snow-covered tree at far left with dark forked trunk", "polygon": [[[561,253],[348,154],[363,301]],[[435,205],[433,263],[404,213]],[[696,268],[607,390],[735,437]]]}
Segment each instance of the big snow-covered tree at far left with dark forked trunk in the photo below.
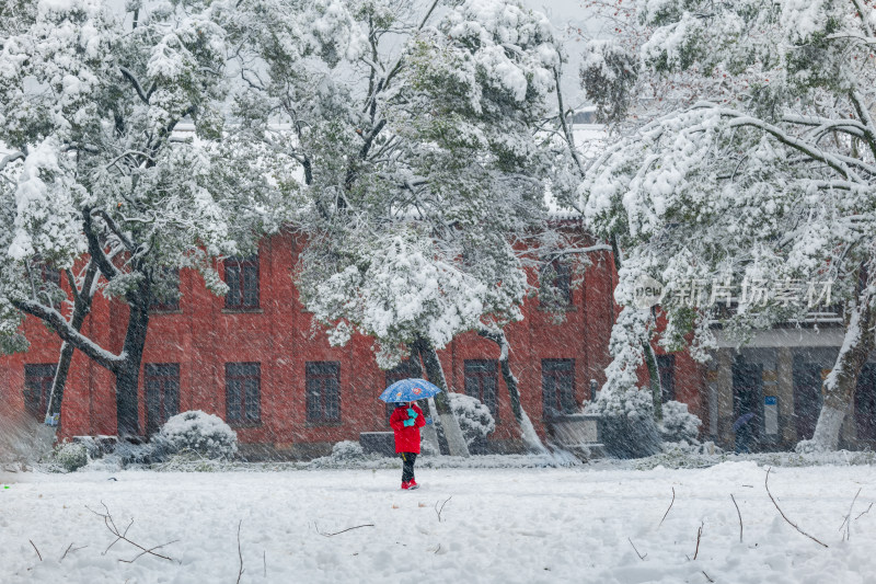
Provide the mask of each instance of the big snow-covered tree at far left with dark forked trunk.
{"label": "big snow-covered tree at far left with dark forked trunk", "polygon": [[[232,48],[211,2],[0,10],[0,344],[25,348],[24,317],[43,320],[115,375],[118,432],[137,434],[150,305],[178,295],[182,267],[223,291],[216,260],[253,249],[284,207],[257,150],[216,140]],[[81,332],[92,294],[128,308],[118,353]]]}

